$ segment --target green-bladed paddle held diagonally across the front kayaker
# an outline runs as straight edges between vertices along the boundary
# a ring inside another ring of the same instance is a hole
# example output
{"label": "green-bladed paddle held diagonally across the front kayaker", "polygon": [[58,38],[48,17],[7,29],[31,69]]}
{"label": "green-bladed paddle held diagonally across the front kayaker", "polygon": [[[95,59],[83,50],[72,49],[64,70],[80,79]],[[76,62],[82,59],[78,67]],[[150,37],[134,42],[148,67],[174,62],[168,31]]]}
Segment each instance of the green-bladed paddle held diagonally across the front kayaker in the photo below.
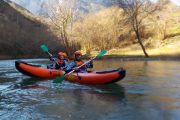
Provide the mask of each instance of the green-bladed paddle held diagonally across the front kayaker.
{"label": "green-bladed paddle held diagonally across the front kayaker", "polygon": [[[98,57],[98,56],[103,56],[104,54],[106,54],[106,52],[107,52],[106,50],[102,50],[102,51],[99,52],[95,57],[91,58],[90,60],[88,60],[87,62],[85,62],[84,64],[82,64],[81,66],[77,67],[77,70],[78,70],[79,68],[81,68],[82,66],[86,65],[87,63],[91,62],[92,60],[94,60],[96,57]],[[57,78],[53,81],[53,83],[61,83],[67,75],[73,73],[74,71],[75,71],[75,70],[72,70],[71,72],[69,72],[69,73],[67,73],[67,74],[64,74],[64,75],[62,75],[62,76],[60,76],[60,77],[57,77]]]}

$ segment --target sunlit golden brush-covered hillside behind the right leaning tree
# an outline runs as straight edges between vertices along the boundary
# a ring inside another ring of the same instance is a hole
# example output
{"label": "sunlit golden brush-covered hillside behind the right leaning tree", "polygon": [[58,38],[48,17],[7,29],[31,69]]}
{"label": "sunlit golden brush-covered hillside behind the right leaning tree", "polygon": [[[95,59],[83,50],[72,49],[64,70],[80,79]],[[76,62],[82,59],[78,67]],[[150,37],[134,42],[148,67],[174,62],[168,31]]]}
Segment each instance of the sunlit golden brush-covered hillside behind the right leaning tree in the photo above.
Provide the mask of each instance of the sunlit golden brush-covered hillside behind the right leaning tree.
{"label": "sunlit golden brush-covered hillside behind the right leaning tree", "polygon": [[[180,7],[168,3],[143,25],[141,37],[150,56],[180,56]],[[117,6],[76,22],[73,35],[84,53],[107,49],[110,56],[143,56],[134,31],[124,23],[123,10]]]}

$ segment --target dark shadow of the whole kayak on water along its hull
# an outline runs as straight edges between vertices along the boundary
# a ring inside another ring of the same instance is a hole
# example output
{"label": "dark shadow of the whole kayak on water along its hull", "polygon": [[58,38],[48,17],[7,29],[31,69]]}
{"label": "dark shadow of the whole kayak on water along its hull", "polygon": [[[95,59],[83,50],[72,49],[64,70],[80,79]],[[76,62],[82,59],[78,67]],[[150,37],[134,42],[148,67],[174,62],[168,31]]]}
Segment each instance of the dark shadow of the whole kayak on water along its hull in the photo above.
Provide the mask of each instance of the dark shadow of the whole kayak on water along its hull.
{"label": "dark shadow of the whole kayak on water along its hull", "polygon": [[[42,86],[39,83],[46,82],[47,80],[42,80],[39,78],[25,78],[21,82],[14,85],[14,89],[38,89],[38,88],[47,88],[51,86]],[[52,81],[49,81],[52,82]],[[67,85],[66,85],[67,83]],[[61,84],[54,84],[56,88],[54,89],[55,92],[64,91],[64,86],[67,86],[68,90],[73,91],[74,98],[81,99],[81,97],[86,95],[96,96],[98,99],[103,100],[123,100],[125,99],[125,88],[119,84],[113,83],[108,85],[81,85],[81,84],[74,84],[69,82],[63,82]],[[73,86],[72,89],[70,86]],[[86,89],[88,87],[88,89]],[[82,89],[81,89],[82,88]]]}

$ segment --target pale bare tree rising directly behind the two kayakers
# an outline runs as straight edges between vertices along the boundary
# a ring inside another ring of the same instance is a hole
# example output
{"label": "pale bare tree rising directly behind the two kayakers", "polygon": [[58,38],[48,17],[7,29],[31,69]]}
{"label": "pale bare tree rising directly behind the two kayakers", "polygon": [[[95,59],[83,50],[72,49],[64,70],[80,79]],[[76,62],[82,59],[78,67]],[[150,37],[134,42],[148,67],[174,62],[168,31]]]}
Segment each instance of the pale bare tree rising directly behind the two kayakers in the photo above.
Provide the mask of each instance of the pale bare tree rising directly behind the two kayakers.
{"label": "pale bare tree rising directly behind the two kayakers", "polygon": [[52,29],[62,40],[69,55],[71,54],[71,43],[68,31],[72,29],[74,5],[75,0],[62,0],[54,7],[47,5],[49,10],[48,17],[52,22]]}

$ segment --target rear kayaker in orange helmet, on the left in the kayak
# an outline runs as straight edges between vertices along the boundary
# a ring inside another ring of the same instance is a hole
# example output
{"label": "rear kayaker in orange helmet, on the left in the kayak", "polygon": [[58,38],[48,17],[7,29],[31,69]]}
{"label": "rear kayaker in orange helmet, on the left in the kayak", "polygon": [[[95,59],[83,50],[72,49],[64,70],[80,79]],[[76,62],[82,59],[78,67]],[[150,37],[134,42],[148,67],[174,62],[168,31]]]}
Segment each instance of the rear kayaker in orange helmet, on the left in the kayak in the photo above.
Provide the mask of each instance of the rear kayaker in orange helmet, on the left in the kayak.
{"label": "rear kayaker in orange helmet, on the left in the kayak", "polygon": [[59,52],[57,54],[57,58],[50,56],[50,60],[53,61],[52,64],[48,65],[47,68],[48,69],[61,69],[61,70],[65,70],[66,67],[68,66],[68,62],[65,59],[65,57],[67,57],[67,55],[63,52]]}

